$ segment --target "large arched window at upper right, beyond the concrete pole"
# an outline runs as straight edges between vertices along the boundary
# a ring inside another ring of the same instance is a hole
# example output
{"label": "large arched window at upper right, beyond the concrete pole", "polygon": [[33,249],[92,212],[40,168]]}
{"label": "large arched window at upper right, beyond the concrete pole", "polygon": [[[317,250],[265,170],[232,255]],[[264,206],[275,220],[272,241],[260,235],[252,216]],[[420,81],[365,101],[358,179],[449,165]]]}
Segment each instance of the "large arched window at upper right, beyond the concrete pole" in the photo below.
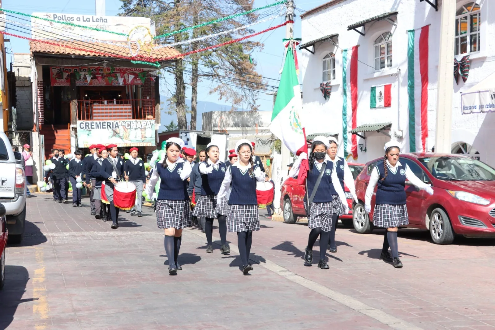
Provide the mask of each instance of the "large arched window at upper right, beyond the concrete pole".
{"label": "large arched window at upper right, beyond the concrete pole", "polygon": [[481,7],[468,2],[455,13],[454,55],[480,51]]}

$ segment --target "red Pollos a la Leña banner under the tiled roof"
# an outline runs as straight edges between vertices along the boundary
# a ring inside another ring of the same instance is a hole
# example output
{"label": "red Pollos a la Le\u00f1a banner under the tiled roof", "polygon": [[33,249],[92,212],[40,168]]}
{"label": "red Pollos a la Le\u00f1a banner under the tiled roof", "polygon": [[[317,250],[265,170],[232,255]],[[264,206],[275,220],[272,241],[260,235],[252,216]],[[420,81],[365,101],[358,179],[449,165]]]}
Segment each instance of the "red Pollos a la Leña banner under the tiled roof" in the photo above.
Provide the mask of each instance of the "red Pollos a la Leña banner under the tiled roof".
{"label": "red Pollos a la Le\u00f1a banner under the tiled roof", "polygon": [[70,86],[70,74],[76,76],[76,86],[142,85],[152,77],[142,68],[113,66],[50,66],[51,86]]}

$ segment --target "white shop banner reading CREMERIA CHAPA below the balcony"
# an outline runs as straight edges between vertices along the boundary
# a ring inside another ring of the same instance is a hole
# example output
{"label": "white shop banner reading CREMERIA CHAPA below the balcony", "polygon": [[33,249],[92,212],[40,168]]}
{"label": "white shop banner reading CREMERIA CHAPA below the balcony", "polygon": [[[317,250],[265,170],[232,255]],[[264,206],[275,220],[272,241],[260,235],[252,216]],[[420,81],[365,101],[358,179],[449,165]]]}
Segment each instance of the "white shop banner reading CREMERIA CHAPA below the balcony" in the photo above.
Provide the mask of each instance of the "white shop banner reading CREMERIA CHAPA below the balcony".
{"label": "white shop banner reading CREMERIA CHAPA below the balcony", "polygon": [[77,144],[116,144],[118,147],[155,146],[155,121],[152,120],[78,120]]}

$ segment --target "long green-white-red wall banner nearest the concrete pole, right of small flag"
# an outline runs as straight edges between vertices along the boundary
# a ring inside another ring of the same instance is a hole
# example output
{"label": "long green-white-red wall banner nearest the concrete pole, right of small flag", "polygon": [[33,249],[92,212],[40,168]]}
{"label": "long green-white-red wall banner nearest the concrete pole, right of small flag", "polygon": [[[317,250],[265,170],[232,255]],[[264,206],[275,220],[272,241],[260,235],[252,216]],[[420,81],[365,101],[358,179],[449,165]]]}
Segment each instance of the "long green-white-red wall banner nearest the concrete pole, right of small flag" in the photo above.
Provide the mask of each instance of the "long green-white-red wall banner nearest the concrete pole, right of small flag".
{"label": "long green-white-red wall banner nearest the concrete pole, right of small flag", "polygon": [[430,26],[409,30],[407,45],[407,94],[409,152],[426,151],[428,137],[428,39]]}

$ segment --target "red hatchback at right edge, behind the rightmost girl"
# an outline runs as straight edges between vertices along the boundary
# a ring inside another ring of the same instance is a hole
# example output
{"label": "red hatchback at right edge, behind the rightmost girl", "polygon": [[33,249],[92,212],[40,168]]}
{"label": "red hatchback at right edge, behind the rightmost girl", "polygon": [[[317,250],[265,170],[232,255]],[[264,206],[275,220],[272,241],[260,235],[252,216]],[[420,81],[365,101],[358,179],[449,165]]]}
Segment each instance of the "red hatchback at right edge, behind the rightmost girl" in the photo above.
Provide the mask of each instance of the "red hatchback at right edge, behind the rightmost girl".
{"label": "red hatchback at right edge, behind the rightmost girl", "polygon": [[[407,213],[410,228],[428,229],[436,244],[450,244],[456,234],[466,237],[495,237],[495,169],[478,160],[452,154],[401,154],[400,163],[434,190],[432,196],[407,184]],[[368,162],[356,179],[352,222],[359,233],[373,230],[375,192],[372,212],[364,211],[364,195],[375,165],[383,158]],[[410,183],[410,182],[409,182]],[[371,221],[370,221],[371,219]]]}

